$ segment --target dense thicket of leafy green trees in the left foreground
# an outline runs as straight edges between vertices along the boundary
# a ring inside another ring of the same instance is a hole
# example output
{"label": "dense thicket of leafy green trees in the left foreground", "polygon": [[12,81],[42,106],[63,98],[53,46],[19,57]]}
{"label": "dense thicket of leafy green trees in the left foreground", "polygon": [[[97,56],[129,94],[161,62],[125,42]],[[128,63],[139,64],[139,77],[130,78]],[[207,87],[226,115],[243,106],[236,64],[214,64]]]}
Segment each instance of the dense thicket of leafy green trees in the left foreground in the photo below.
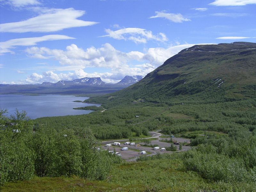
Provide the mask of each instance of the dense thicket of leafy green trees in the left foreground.
{"label": "dense thicket of leafy green trees in the left foreground", "polygon": [[1,124],[12,121],[0,134],[0,185],[8,181],[29,180],[34,176],[71,176],[91,180],[108,177],[111,167],[120,163],[118,156],[99,151],[90,129],[73,127],[56,132],[41,126],[32,132],[26,112],[16,111],[8,119],[1,110]]}

